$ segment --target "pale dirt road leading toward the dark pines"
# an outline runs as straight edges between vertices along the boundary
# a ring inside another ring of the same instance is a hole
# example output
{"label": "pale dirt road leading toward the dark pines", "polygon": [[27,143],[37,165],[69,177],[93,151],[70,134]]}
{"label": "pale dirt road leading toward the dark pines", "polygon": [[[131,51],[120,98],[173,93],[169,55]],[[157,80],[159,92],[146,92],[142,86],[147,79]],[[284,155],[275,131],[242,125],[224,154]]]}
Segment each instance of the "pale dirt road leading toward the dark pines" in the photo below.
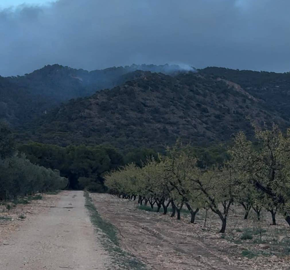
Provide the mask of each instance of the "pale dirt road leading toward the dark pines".
{"label": "pale dirt road leading toward the dark pines", "polygon": [[32,217],[0,246],[0,269],[110,269],[82,191],[62,192],[57,207]]}

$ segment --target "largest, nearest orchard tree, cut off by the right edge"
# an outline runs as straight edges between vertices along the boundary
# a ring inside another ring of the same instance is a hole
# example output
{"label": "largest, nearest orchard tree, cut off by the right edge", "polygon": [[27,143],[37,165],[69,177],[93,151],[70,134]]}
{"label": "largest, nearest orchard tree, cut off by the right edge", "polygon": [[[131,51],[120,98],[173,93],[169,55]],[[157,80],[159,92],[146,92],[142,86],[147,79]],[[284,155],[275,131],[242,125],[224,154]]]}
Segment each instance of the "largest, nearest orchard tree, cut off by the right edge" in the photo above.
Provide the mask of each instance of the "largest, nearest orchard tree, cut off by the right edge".
{"label": "largest, nearest orchard tree, cut off by the right edge", "polygon": [[277,126],[271,130],[255,127],[257,146],[240,132],[230,150],[232,163],[245,185],[267,195],[290,225],[290,129],[283,135]]}

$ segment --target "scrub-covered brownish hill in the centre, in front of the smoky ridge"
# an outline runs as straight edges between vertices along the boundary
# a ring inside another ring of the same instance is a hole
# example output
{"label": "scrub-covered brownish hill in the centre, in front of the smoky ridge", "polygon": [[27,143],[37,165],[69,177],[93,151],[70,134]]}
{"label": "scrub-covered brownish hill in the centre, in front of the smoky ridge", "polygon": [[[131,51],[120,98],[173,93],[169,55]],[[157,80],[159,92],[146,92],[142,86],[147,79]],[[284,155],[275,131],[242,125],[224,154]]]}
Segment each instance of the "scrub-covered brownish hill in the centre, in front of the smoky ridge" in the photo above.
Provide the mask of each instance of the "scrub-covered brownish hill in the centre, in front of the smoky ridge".
{"label": "scrub-covered brownish hill in the centre, in front of the smoky ridge", "polygon": [[51,110],[20,139],[160,150],[179,137],[202,145],[227,141],[239,130],[252,134],[252,121],[282,128],[289,124],[262,98],[213,75],[136,71],[126,78],[131,80]]}

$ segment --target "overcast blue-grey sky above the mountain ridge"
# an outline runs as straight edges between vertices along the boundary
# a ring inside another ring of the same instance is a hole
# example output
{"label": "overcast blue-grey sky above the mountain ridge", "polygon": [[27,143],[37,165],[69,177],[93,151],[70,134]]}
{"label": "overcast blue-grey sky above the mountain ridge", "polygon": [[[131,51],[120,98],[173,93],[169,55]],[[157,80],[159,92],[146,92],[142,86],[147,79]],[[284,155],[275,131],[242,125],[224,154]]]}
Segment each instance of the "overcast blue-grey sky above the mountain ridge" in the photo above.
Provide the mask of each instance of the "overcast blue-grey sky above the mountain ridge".
{"label": "overcast blue-grey sky above the mountain ridge", "polygon": [[0,75],[55,63],[290,71],[289,0],[48,2],[0,0]]}

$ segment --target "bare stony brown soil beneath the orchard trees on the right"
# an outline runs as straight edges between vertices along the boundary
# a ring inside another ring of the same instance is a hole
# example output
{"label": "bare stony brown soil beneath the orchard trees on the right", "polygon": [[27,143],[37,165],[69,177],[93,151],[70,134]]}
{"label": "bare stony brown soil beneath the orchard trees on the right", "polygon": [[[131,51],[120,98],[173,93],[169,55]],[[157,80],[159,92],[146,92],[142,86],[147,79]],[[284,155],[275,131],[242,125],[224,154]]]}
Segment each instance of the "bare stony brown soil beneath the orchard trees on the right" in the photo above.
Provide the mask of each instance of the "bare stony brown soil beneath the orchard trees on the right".
{"label": "bare stony brown soil beneath the orchard trees on the right", "polygon": [[[146,262],[148,269],[290,269],[290,227],[282,217],[273,226],[265,213],[260,241],[255,222],[251,217],[244,221],[238,206],[231,210],[226,233],[220,234],[220,220],[210,212],[204,227],[205,211],[190,224],[187,213],[178,221],[170,213],[139,210],[136,201],[91,196],[102,218],[117,228],[122,248]],[[247,232],[253,238],[242,240]]]}

